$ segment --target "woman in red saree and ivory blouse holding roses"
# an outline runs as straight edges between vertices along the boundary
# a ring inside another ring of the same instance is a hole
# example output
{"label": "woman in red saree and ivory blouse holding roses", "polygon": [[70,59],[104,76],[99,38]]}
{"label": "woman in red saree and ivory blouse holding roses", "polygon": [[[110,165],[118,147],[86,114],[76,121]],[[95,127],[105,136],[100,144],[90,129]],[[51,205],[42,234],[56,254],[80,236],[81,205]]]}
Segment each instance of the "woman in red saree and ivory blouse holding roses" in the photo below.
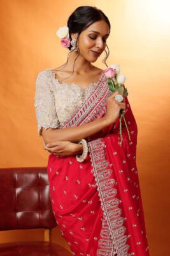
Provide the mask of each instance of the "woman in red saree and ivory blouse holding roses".
{"label": "woman in red saree and ivory blouse holding roses", "polygon": [[[92,65],[103,51],[108,58],[110,22],[96,7],[80,6],[67,29],[68,36],[57,31],[70,50],[66,65],[43,70],[36,79],[38,132],[51,153],[47,170],[55,219],[73,255],[148,256],[136,121],[127,97],[115,100],[121,93],[111,93],[104,70]],[[122,122],[122,145],[120,109],[126,109],[131,132],[129,142]]]}

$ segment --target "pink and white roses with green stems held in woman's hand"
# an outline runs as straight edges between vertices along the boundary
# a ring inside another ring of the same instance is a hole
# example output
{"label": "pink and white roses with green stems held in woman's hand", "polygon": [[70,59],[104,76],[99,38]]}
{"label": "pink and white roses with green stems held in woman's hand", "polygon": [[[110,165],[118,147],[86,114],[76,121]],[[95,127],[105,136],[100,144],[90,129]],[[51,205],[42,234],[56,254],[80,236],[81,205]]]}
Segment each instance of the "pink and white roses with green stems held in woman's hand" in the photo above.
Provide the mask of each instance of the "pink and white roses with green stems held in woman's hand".
{"label": "pink and white roses with green stems held in woman's hand", "polygon": [[[106,78],[108,78],[108,86],[110,88],[111,92],[120,92],[124,95],[124,97],[127,97],[128,92],[127,92],[127,88],[124,88],[123,84],[125,82],[126,77],[124,75],[120,75],[120,67],[119,65],[111,65],[110,67],[106,68],[104,70],[104,75],[106,76]],[[117,94],[115,96],[115,100],[117,100],[118,102],[122,102],[124,100],[124,98],[122,97],[122,95]],[[127,110],[126,110],[127,111]],[[124,117],[124,113],[126,112],[123,109],[120,110],[120,116],[119,116],[119,120],[120,120],[120,145],[122,145],[122,118],[124,118],[124,122],[125,122],[125,117]],[[125,127],[127,129],[127,133],[129,136],[129,140],[131,141],[131,136],[129,134],[129,130],[127,127],[127,123],[125,122]]]}

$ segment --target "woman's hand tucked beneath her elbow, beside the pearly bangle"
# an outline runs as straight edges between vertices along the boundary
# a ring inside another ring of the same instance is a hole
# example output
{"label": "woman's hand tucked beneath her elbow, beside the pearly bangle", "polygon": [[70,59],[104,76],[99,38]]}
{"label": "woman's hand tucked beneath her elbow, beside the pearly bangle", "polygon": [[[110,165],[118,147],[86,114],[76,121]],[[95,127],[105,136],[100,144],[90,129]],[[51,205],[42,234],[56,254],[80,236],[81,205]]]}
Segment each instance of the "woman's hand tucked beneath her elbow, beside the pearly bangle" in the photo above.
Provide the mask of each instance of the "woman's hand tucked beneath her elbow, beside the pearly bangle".
{"label": "woman's hand tucked beneath her elbow, beside the pearly bangle", "polygon": [[83,152],[83,145],[72,143],[70,141],[56,141],[48,143],[48,147],[43,141],[44,149],[50,154],[59,157],[74,156],[74,154],[81,154]]}

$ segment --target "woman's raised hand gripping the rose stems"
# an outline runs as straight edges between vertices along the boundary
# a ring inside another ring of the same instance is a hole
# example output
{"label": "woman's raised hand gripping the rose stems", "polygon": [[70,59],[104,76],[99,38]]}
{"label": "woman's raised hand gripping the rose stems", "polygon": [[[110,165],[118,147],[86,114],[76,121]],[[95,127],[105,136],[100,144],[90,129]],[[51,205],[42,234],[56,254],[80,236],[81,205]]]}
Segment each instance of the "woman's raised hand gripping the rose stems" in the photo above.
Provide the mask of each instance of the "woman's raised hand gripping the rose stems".
{"label": "woman's raised hand gripping the rose stems", "polygon": [[125,110],[125,102],[118,102],[115,100],[115,95],[120,94],[124,97],[124,95],[120,92],[113,93],[110,97],[107,99],[107,111],[104,118],[110,122],[110,124],[116,122],[118,116],[120,115],[120,109]]}

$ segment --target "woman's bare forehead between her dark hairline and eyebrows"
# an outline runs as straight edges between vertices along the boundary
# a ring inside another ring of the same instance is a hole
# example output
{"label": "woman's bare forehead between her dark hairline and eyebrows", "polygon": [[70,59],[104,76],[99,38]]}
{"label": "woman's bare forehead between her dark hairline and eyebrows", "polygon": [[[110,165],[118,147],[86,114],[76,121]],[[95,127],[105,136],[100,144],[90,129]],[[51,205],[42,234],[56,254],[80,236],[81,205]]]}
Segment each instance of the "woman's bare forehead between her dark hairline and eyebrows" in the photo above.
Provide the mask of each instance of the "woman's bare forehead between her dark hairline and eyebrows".
{"label": "woman's bare forehead between her dark hairline and eyebrows", "polygon": [[87,29],[85,29],[87,33],[90,31],[96,31],[101,35],[109,35],[110,34],[110,28],[108,23],[106,23],[105,20],[99,20],[91,24]]}

